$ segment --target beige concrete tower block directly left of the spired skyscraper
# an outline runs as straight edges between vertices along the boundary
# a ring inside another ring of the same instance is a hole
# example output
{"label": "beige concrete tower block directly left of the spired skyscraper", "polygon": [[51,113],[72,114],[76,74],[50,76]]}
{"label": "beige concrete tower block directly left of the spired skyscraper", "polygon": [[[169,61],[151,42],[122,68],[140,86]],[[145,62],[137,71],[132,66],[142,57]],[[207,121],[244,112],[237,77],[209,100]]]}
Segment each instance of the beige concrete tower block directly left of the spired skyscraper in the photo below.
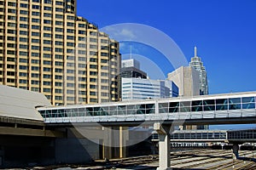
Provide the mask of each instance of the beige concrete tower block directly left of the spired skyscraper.
{"label": "beige concrete tower block directly left of the spired skyscraper", "polygon": [[177,68],[177,70],[168,73],[167,79],[177,85],[179,96],[200,95],[199,72],[192,66],[181,66]]}

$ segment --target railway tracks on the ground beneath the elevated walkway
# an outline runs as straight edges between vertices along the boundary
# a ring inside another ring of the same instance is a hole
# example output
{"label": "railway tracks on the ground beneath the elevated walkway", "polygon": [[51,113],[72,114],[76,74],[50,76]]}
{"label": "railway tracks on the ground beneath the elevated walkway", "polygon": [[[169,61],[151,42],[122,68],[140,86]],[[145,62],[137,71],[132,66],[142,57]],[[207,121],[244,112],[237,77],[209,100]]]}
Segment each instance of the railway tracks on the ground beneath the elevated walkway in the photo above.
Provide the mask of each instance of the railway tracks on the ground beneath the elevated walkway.
{"label": "railway tracks on the ground beneath the elevated walkway", "polygon": [[[233,160],[231,150],[187,150],[171,152],[171,166],[173,169],[256,169],[256,163],[250,160],[253,157],[252,152],[241,150],[240,155],[247,157],[248,161]],[[121,159],[111,159],[109,161],[95,161],[92,164],[80,166],[67,166],[72,169],[152,169],[158,167],[159,157],[135,156]],[[44,167],[40,170],[56,169],[58,166]],[[36,168],[35,168],[36,169]]]}

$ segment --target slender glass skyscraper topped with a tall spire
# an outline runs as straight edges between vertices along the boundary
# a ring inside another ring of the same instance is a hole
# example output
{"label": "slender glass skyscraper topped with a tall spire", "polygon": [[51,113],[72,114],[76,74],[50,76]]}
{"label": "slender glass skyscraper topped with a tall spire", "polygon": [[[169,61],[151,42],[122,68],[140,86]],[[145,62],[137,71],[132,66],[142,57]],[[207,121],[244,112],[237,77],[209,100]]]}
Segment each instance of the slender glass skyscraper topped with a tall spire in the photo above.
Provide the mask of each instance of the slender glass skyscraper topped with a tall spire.
{"label": "slender glass skyscraper topped with a tall spire", "polygon": [[197,56],[197,49],[195,47],[195,56],[191,58],[189,62],[190,66],[193,66],[196,71],[199,72],[200,77],[200,95],[208,94],[208,82],[207,82],[207,71],[201,58]]}

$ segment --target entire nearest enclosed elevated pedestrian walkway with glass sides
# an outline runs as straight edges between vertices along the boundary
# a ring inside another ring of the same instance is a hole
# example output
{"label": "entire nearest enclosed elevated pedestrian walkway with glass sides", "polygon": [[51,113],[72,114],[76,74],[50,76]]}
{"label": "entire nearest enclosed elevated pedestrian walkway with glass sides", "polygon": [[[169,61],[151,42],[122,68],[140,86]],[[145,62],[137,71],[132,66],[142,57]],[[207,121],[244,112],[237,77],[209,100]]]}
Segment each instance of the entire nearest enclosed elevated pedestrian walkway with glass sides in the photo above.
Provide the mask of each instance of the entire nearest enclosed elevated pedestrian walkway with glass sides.
{"label": "entire nearest enclosed elevated pedestrian walkway with glass sides", "polygon": [[170,99],[144,99],[95,105],[38,107],[46,124],[99,122],[132,126],[164,122],[183,124],[253,123],[256,92]]}

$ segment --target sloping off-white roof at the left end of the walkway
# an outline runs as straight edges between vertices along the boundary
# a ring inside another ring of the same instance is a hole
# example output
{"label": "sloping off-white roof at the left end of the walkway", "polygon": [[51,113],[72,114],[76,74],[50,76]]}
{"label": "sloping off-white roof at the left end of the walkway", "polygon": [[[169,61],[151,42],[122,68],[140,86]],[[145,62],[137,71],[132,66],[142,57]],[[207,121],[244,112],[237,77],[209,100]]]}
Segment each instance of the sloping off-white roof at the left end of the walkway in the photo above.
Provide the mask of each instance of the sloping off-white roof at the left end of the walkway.
{"label": "sloping off-white roof at the left end of the walkway", "polygon": [[36,106],[50,106],[44,94],[0,85],[0,116],[44,121]]}

